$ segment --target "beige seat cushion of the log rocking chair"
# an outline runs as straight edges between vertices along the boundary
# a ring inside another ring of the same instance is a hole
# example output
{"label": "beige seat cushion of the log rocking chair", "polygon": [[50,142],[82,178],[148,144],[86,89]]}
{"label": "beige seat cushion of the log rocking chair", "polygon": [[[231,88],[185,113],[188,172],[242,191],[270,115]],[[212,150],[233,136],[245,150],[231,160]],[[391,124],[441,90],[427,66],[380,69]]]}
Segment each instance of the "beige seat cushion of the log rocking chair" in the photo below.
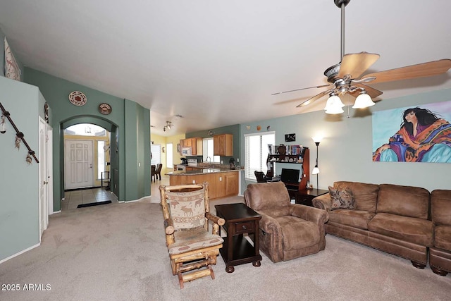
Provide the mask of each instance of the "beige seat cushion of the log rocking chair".
{"label": "beige seat cushion of the log rocking chair", "polygon": [[174,236],[175,243],[168,246],[169,254],[171,255],[221,245],[224,241],[221,236],[211,234],[205,228],[175,231]]}

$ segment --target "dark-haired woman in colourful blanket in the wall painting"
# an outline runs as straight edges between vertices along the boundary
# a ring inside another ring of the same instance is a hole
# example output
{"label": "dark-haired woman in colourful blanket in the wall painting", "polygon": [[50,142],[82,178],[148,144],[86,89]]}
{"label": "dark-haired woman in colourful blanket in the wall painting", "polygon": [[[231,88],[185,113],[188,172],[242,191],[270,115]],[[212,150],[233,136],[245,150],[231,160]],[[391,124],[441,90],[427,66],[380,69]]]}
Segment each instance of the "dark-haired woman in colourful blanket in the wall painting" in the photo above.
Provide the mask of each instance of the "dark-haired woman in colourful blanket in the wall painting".
{"label": "dark-haired woman in colourful blanket in the wall painting", "polygon": [[451,124],[428,109],[404,111],[400,130],[373,152],[373,161],[451,163]]}

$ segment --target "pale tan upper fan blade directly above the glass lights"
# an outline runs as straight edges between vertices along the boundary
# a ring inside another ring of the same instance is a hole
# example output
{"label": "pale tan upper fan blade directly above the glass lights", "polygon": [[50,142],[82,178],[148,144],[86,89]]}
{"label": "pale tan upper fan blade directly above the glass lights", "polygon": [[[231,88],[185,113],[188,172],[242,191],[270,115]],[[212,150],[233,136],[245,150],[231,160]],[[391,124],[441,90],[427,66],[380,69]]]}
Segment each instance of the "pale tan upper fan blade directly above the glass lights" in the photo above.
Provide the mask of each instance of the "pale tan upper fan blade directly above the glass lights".
{"label": "pale tan upper fan blade directly above the glass lights", "polygon": [[360,78],[360,75],[364,74],[378,59],[378,54],[370,54],[368,52],[345,54],[338,71],[338,78],[344,78],[345,75],[350,75],[351,78]]}

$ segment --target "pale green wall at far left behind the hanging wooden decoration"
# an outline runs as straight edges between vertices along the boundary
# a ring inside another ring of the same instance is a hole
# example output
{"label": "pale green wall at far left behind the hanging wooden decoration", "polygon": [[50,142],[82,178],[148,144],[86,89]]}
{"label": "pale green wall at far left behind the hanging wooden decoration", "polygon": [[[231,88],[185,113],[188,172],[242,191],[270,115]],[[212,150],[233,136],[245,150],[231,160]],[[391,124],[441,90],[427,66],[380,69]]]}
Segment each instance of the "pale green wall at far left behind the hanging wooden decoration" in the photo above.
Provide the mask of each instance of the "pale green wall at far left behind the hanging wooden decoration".
{"label": "pale green wall at far left behind the hanging wooden decoration", "polygon": [[[37,87],[0,77],[0,102],[39,158]],[[27,148],[15,147],[16,130],[6,121],[0,134],[0,261],[39,245],[39,164],[27,164]]]}

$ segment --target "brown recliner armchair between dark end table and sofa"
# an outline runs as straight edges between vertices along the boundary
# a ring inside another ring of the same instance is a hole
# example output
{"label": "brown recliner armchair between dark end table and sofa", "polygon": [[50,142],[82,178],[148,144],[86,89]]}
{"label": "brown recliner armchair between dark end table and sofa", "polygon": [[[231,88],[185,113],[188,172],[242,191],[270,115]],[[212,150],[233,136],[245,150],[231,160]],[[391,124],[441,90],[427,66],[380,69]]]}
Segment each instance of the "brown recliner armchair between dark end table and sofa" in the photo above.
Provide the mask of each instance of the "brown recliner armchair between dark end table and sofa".
{"label": "brown recliner armchair between dark end table and sofa", "polygon": [[326,210],[291,204],[282,182],[247,185],[247,206],[261,215],[260,250],[272,262],[287,261],[324,250]]}

